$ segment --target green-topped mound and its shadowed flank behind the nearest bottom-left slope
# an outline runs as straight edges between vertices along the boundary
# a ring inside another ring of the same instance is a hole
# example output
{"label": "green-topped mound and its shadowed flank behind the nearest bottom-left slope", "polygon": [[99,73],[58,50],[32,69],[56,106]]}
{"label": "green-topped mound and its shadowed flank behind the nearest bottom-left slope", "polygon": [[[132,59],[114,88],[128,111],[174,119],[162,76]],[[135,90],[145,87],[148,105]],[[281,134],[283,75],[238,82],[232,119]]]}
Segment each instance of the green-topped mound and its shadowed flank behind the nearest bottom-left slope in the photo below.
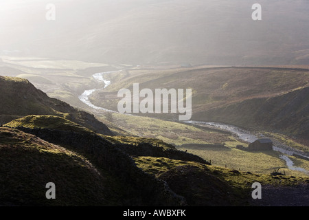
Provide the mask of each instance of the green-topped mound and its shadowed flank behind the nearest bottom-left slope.
{"label": "green-topped mound and its shadowed flank behind the nearest bottom-left slope", "polygon": [[[46,122],[46,124],[44,123]],[[63,124],[63,126],[61,126]],[[107,205],[156,205],[158,203],[179,205],[179,199],[170,192],[163,182],[142,172],[133,160],[120,150],[119,144],[122,137],[113,137],[96,134],[78,124],[69,122],[64,118],[50,115],[28,115],[14,120],[5,126],[14,126],[27,133],[32,133],[43,140],[58,144],[71,151],[77,152],[95,164],[98,169],[106,172],[106,181],[111,188],[106,188],[111,193],[111,201]],[[103,138],[102,138],[103,137]],[[114,139],[115,138],[115,139]],[[124,137],[128,143],[129,137]],[[132,141],[147,142],[146,139],[132,137]],[[151,140],[158,142],[158,140]],[[112,144],[115,143],[115,144]],[[161,143],[163,146],[163,143]],[[165,148],[171,148],[164,143]],[[87,188],[86,185],[84,185]],[[106,187],[106,186],[104,186]],[[141,189],[141,187],[143,187]],[[113,195],[113,193],[115,193]],[[151,199],[147,196],[150,194]],[[115,201],[115,199],[117,199]]]}

